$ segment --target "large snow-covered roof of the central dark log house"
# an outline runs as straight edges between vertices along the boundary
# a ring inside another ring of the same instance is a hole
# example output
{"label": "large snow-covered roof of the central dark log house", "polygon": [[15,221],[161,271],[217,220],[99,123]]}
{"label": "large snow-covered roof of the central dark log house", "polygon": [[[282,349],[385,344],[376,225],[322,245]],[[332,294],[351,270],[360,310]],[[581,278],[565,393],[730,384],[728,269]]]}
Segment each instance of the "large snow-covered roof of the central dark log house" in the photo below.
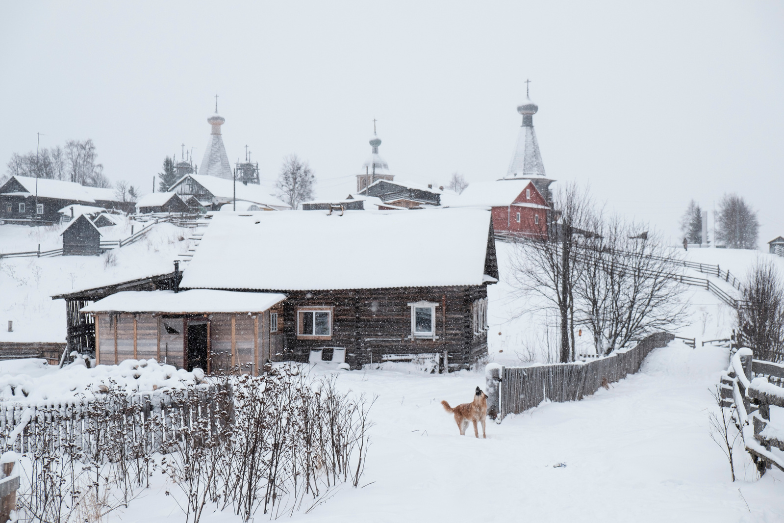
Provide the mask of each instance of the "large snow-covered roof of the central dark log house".
{"label": "large snow-covered roof of the central dark log house", "polygon": [[[183,275],[202,289],[481,285],[487,209],[216,213]],[[252,270],[226,270],[238,260]]]}

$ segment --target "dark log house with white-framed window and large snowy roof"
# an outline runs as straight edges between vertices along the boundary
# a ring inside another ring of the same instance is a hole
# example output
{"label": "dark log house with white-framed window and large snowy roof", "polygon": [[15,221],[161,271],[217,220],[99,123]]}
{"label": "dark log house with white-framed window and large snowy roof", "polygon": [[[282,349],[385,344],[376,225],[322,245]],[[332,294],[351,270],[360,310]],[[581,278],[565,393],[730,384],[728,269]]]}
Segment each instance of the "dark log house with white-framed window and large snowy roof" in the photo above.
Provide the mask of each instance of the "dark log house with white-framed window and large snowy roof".
{"label": "dark log house with white-framed window and large snowy roof", "polygon": [[464,369],[487,354],[498,277],[486,209],[256,212],[212,218],[182,287],[285,294],[272,360],[339,348],[352,368],[426,355]]}

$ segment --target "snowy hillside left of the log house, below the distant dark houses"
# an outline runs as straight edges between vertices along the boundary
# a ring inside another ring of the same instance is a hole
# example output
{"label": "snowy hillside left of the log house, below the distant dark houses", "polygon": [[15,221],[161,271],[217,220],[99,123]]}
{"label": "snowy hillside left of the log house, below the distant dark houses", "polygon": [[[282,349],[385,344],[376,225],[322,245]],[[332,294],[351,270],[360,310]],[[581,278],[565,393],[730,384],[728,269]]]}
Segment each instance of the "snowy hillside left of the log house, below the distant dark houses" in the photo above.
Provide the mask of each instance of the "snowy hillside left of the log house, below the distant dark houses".
{"label": "snowy hillside left of the log house, below the distant dark houses", "polygon": [[[124,219],[123,219],[124,220]],[[123,221],[102,227],[102,238],[127,238],[141,223]],[[0,251],[34,251],[62,246],[63,226],[0,226]],[[158,223],[139,241],[102,256],[55,256],[52,258],[0,259],[0,342],[65,341],[65,303],[50,296],[74,289],[163,274],[174,270],[173,260],[193,243],[187,238],[193,229]],[[8,332],[8,321],[13,332]]]}

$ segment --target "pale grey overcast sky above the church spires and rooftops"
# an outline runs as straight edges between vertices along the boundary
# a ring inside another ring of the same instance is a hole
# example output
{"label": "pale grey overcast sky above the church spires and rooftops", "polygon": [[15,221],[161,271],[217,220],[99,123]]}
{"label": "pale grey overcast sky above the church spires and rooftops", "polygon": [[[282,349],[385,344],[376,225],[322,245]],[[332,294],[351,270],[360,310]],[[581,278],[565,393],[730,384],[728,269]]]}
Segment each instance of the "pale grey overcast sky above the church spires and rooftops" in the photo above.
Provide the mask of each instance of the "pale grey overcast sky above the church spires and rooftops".
{"label": "pale grey overcast sky above the church spires and rooftops", "polygon": [[[227,5],[230,4],[230,5]],[[531,79],[548,177],[590,183],[677,240],[691,198],[737,192],[784,234],[782,2],[2,2],[0,169],[92,138],[143,193],[226,118],[234,163],[285,154],[354,191],[378,119],[398,179],[506,173]],[[557,187],[556,183],[554,187]],[[561,183],[562,184],[562,183]]]}

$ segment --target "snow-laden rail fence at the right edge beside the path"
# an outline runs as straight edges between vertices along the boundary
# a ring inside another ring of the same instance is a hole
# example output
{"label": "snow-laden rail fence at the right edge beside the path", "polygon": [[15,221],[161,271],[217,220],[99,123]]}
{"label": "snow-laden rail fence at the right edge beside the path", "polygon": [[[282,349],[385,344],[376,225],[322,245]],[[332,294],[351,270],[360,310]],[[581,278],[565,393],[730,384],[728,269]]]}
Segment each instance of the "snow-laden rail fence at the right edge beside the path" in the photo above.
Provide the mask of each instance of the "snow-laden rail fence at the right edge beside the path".
{"label": "snow-laden rail fence at the right edge beside the path", "polygon": [[784,365],[753,359],[753,350],[739,348],[721,376],[723,407],[735,408],[743,445],[760,476],[772,465],[784,470],[784,459],[771,452],[784,451],[784,427],[771,424],[771,405],[784,408]]}

